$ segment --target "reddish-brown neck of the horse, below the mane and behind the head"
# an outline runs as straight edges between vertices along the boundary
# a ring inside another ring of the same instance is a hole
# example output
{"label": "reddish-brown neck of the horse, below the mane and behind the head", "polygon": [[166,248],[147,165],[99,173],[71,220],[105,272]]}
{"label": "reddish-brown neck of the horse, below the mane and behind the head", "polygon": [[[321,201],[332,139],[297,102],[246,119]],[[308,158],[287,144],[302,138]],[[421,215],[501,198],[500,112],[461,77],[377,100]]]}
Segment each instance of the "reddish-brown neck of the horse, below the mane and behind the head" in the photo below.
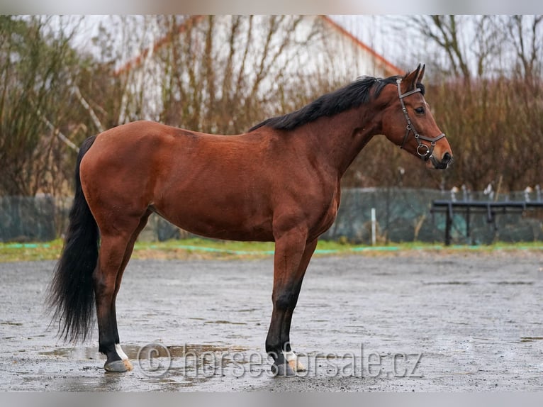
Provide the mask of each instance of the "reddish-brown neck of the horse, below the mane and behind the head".
{"label": "reddish-brown neck of the horse, below the mane and behind the head", "polygon": [[342,177],[360,150],[379,133],[376,115],[369,108],[351,109],[335,116],[308,123],[306,131],[318,146],[320,162]]}

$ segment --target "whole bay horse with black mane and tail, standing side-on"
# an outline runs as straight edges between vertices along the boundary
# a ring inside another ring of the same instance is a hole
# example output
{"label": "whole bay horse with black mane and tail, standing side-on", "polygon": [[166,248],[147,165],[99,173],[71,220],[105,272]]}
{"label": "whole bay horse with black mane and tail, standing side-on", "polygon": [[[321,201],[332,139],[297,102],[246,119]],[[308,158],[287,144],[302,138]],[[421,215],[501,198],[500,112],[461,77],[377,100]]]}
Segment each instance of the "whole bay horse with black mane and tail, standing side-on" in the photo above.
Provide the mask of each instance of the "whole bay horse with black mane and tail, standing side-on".
{"label": "whole bay horse with black mane and tail, standing side-on", "polygon": [[265,342],[278,376],[293,376],[289,335],[318,237],[335,220],[340,182],[374,135],[445,169],[452,151],[425,101],[424,66],[386,79],[361,77],[247,133],[210,135],[150,121],[87,138],[49,293],[65,340],[85,340],[94,320],[104,369],[125,372],[116,296],[151,213],[191,233],[274,241],[273,311]]}

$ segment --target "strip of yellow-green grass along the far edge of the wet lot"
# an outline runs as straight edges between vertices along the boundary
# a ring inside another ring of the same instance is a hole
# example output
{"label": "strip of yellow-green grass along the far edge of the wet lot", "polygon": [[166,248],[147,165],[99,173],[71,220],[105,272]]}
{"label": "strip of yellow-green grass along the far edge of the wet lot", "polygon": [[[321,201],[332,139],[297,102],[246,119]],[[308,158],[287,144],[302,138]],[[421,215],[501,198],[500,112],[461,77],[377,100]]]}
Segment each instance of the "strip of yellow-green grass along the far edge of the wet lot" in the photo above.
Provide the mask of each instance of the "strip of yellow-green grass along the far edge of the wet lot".
{"label": "strip of yellow-green grass along the far edge of the wet lot", "polygon": [[[62,251],[60,239],[40,243],[0,243],[0,262],[28,262],[37,260],[57,260]],[[503,243],[493,245],[469,246],[409,242],[371,247],[352,245],[348,242],[320,240],[315,256],[326,255],[431,255],[439,253],[476,253],[496,255],[501,252],[541,252],[543,242]],[[136,242],[133,259],[198,260],[198,259],[258,259],[270,257],[274,253],[273,242],[233,242],[230,240],[210,240],[191,238],[169,240],[167,242]]]}

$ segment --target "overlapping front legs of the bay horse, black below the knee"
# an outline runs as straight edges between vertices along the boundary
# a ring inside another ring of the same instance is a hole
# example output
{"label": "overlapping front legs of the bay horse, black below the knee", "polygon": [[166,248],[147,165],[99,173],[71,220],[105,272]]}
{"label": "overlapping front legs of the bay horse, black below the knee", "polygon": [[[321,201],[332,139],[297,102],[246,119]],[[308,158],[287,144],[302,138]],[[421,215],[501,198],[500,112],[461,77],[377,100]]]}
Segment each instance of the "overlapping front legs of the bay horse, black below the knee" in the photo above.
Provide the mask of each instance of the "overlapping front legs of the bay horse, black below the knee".
{"label": "overlapping front legs of the bay horse, black below the knee", "polygon": [[308,243],[306,239],[307,233],[297,228],[276,238],[271,296],[274,308],[266,339],[266,351],[274,358],[271,369],[276,376],[296,376],[294,371],[298,369],[290,346],[291,319],[303,275],[317,243],[316,240]]}

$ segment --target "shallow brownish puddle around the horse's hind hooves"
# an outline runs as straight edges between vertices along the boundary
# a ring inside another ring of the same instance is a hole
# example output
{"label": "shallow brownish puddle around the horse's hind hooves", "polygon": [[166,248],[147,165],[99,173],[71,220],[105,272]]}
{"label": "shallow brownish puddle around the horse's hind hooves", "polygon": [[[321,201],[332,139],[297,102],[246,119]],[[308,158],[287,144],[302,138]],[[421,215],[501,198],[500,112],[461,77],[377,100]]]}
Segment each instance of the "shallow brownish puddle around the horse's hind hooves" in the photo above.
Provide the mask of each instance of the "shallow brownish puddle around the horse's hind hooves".
{"label": "shallow brownish puddle around the horse's hind hooves", "polygon": [[[225,353],[225,352],[246,352],[248,347],[237,346],[218,346],[218,345],[172,345],[164,346],[161,343],[151,343],[145,345],[121,345],[128,359],[146,359],[149,355],[152,357],[185,357],[186,355],[202,355],[204,353]],[[152,348],[150,353],[146,350]],[[105,359],[105,356],[98,352],[98,347],[59,347],[54,350],[39,352],[40,355],[66,357],[68,359]]]}

